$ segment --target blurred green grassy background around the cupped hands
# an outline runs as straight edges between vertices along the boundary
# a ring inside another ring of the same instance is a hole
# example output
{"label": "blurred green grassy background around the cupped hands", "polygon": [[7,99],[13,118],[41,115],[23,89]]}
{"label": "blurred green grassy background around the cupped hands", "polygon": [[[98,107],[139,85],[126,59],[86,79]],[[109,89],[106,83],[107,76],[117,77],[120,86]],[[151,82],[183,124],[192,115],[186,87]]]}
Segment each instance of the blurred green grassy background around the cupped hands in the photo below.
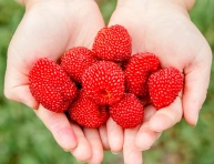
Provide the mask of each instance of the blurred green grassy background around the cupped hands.
{"label": "blurred green grassy background around the cupped hands", "polygon": [[[108,21],[116,0],[100,3]],[[29,107],[3,95],[7,49],[24,13],[12,0],[0,0],[0,164],[78,164],[62,151],[50,132]],[[214,50],[214,0],[197,0],[191,18]],[[196,127],[184,121],[163,133],[143,153],[145,164],[214,164],[214,66],[207,99]],[[103,164],[122,164],[122,154],[105,152]],[[134,164],[134,162],[133,162]]]}

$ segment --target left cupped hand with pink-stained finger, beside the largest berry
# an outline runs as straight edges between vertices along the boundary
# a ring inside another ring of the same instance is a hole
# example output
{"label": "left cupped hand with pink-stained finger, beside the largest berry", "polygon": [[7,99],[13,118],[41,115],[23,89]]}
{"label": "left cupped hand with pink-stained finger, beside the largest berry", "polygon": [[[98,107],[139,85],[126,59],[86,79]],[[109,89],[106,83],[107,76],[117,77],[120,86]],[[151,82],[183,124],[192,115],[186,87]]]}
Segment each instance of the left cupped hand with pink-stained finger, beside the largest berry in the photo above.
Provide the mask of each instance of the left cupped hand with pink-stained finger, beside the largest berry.
{"label": "left cupped hand with pink-stained finger, beside the largest berry", "polygon": [[91,48],[103,19],[93,0],[26,0],[27,11],[8,51],[4,93],[35,109],[59,145],[78,161],[101,163],[103,147],[98,130],[71,124],[65,114],[40,105],[29,91],[28,73],[39,58],[58,61],[65,50]]}

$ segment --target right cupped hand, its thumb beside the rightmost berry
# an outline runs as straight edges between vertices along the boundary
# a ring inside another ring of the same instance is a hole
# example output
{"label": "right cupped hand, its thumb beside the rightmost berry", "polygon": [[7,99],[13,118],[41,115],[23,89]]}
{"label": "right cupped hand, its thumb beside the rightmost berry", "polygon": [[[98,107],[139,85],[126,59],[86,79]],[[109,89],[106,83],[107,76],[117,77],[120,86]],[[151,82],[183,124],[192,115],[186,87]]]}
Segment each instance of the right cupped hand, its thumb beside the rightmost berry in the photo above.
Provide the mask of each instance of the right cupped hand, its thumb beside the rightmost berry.
{"label": "right cupped hand, its thumb beside the rightmost berry", "polygon": [[[181,121],[196,125],[198,112],[206,98],[212,52],[191,22],[187,10],[194,1],[120,0],[110,24],[124,25],[132,37],[133,51],[155,53],[163,68],[175,66],[185,76],[184,89],[170,106],[155,112],[145,109],[145,123],[123,131],[110,120],[106,124],[109,145],[113,152],[123,148],[125,164],[142,163],[140,152],[149,148],[164,130]],[[116,137],[115,137],[116,136]],[[124,142],[124,144],[123,144]]]}

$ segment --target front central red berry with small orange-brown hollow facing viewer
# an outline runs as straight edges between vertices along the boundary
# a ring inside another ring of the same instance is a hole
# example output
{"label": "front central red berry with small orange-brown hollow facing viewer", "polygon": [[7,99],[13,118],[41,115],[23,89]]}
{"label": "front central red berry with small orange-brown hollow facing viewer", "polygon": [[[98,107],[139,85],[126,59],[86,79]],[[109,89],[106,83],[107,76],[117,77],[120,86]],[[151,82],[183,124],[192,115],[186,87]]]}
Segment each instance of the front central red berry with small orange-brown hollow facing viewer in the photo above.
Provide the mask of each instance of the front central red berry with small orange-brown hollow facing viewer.
{"label": "front central red berry with small orange-brown hollow facing viewer", "polygon": [[82,88],[98,104],[114,104],[124,94],[124,73],[115,63],[100,61],[85,71]]}

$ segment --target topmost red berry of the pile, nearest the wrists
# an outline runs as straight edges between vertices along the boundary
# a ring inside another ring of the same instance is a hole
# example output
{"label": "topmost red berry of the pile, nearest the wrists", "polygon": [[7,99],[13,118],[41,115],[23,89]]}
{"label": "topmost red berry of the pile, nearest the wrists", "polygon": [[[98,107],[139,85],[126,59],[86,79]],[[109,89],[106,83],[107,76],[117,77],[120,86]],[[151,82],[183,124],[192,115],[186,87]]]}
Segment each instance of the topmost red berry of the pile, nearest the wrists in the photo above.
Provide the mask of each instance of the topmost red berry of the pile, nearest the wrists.
{"label": "topmost red berry of the pile, nearest the wrists", "polygon": [[92,50],[102,60],[114,62],[129,60],[132,51],[131,37],[122,25],[105,27],[95,37]]}

